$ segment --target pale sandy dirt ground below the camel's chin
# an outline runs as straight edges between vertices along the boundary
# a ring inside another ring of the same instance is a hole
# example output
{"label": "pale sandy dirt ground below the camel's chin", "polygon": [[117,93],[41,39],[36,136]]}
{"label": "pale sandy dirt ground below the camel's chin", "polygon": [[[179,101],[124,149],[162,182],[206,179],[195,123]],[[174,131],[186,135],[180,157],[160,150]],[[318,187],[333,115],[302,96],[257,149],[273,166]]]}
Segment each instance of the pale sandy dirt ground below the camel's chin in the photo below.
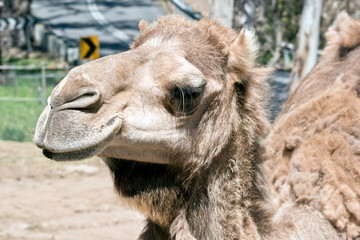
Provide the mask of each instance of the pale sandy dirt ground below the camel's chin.
{"label": "pale sandy dirt ground below the camel's chin", "polygon": [[136,239],[144,217],[121,203],[100,159],[54,162],[0,141],[0,239]]}

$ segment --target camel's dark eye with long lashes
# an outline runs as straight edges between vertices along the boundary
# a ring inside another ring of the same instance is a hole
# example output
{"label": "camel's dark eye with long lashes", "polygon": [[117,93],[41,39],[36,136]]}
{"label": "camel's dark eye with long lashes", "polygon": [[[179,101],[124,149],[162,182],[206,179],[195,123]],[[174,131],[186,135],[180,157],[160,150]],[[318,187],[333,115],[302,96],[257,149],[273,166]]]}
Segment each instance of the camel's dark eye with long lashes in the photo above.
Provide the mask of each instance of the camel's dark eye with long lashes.
{"label": "camel's dark eye with long lashes", "polygon": [[170,103],[176,114],[189,115],[193,113],[200,103],[200,96],[204,86],[175,87],[171,93]]}

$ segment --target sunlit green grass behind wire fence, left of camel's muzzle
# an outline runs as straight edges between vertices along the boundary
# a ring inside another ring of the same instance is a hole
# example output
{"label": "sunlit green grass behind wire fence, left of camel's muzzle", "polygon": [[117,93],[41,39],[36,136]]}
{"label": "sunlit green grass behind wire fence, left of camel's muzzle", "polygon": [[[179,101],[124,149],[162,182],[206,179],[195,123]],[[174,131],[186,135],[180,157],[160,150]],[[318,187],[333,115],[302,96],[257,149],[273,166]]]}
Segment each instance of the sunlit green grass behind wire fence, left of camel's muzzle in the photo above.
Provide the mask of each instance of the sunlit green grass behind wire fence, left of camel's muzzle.
{"label": "sunlit green grass behind wire fence, left of camel's muzzle", "polygon": [[[28,142],[32,141],[37,119],[44,109],[40,101],[41,79],[39,79],[39,72],[33,72],[34,77],[29,72],[26,72],[26,77],[21,77],[18,72],[16,74],[19,76],[0,84],[0,97],[37,98],[38,100],[0,101],[0,138]],[[66,72],[62,74],[65,76]],[[62,76],[57,79],[47,79],[47,96],[61,78]]]}

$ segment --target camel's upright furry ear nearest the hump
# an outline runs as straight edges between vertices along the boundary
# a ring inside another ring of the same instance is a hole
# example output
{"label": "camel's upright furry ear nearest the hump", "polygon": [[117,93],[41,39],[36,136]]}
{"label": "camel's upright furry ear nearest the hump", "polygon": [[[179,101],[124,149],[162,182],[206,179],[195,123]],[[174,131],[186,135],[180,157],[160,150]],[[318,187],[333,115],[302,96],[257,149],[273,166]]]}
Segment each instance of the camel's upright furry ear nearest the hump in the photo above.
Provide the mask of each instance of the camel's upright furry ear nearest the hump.
{"label": "camel's upright furry ear nearest the hump", "polygon": [[230,72],[245,74],[256,66],[258,44],[255,32],[241,30],[238,37],[229,47],[228,67]]}

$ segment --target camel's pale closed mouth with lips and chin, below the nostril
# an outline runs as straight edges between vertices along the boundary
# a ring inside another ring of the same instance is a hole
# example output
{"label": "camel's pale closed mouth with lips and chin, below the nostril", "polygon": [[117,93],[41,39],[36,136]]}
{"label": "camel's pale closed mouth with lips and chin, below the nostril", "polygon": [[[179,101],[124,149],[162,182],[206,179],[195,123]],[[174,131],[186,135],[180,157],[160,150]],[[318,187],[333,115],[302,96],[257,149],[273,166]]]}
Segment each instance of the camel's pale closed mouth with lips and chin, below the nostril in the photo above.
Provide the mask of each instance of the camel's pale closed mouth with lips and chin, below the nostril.
{"label": "camel's pale closed mouth with lips and chin, below the nostril", "polygon": [[[92,117],[90,113],[75,109],[57,111],[48,106],[39,118],[34,142],[43,149],[47,158],[56,161],[82,160],[95,156],[115,138],[121,129],[122,120],[119,117]],[[83,121],[87,124],[83,124]]]}

